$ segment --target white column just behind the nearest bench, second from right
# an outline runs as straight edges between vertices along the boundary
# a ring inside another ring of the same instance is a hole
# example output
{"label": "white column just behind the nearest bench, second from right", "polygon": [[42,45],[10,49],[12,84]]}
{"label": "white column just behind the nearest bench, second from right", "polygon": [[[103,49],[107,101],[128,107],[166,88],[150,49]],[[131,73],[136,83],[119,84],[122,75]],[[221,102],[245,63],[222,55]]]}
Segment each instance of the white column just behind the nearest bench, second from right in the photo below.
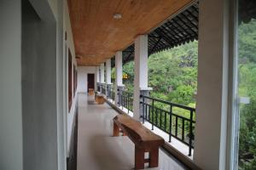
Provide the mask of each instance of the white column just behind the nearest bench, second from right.
{"label": "white column just behind the nearest bench, second from right", "polygon": [[143,115],[140,105],[140,95],[148,95],[148,35],[138,36],[135,40],[134,55],[134,94],[133,117],[139,121]]}

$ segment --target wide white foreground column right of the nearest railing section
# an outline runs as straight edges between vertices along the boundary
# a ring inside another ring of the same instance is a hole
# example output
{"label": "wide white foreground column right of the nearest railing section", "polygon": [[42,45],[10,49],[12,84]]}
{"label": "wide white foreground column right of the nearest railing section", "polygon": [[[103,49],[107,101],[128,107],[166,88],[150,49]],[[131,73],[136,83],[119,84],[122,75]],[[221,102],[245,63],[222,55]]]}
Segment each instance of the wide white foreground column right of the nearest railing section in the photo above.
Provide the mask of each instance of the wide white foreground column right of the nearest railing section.
{"label": "wide white foreground column right of the nearest railing section", "polygon": [[201,169],[227,169],[228,5],[223,0],[205,0],[199,3],[194,161]]}

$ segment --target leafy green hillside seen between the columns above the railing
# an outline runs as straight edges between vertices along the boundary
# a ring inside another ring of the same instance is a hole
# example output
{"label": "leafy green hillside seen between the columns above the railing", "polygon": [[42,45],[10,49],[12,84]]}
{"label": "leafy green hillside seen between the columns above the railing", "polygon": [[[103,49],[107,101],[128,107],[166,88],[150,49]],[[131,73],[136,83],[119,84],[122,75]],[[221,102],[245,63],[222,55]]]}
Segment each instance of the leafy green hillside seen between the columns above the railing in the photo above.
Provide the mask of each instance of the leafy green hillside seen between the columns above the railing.
{"label": "leafy green hillside seen between the columns above the railing", "polygon": [[[124,65],[126,88],[133,90],[134,62]],[[190,42],[152,54],[148,58],[148,86],[151,96],[182,105],[195,105],[197,82],[197,42]]]}

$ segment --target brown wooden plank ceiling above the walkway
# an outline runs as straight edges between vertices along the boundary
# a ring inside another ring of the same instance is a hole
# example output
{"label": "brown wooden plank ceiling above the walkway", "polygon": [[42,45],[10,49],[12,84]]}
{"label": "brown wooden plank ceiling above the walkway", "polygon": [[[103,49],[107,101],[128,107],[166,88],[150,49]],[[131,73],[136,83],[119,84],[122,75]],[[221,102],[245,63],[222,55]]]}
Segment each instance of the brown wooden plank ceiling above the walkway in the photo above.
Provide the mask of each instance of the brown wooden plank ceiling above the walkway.
{"label": "brown wooden plank ceiling above the walkway", "polygon": [[[192,0],[69,0],[79,65],[99,65]],[[120,20],[113,14],[122,14]]]}

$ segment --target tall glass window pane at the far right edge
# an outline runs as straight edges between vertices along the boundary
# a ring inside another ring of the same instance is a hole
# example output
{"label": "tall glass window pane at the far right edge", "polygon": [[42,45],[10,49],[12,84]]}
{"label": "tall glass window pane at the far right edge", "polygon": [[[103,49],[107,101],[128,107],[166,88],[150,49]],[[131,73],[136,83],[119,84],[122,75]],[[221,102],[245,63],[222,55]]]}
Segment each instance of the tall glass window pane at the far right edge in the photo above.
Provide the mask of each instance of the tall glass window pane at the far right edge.
{"label": "tall glass window pane at the far right edge", "polygon": [[256,3],[237,0],[233,169],[256,169]]}

